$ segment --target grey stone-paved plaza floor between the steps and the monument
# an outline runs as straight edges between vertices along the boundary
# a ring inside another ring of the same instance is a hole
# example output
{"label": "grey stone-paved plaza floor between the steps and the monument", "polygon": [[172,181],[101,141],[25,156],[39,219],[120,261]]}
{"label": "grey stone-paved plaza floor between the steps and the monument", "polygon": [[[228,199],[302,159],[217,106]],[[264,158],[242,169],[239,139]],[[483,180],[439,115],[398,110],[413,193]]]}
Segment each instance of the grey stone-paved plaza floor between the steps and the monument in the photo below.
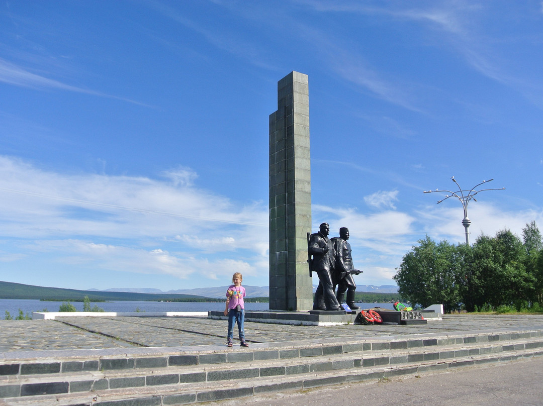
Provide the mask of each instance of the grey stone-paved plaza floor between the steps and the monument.
{"label": "grey stone-paved plaza floor between the steps and the monument", "polygon": [[[228,322],[179,317],[0,320],[0,352],[221,345]],[[543,329],[543,315],[444,315],[426,325],[292,326],[245,322],[249,342],[383,338],[392,335]],[[235,329],[235,338],[237,329]]]}

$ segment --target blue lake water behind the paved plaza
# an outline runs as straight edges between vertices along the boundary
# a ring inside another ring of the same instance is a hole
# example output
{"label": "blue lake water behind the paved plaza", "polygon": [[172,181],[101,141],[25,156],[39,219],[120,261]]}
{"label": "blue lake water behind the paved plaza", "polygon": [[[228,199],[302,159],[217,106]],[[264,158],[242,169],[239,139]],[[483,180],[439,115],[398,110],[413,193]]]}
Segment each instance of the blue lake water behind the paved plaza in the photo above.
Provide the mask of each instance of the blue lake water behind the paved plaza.
{"label": "blue lake water behind the paved plaza", "polygon": [[[83,312],[83,302],[70,302],[78,310]],[[0,299],[0,319],[5,318],[5,312],[9,312],[12,318],[16,318],[19,309],[23,315],[32,312],[42,312],[47,309],[49,312],[58,312],[62,302],[46,302],[40,300],[26,299]],[[104,309],[106,312],[209,312],[210,310],[224,310],[224,302],[142,302],[142,301],[112,301],[112,302],[91,302]],[[358,306],[367,309],[371,307],[382,307],[392,309],[392,303],[358,303]],[[245,309],[249,311],[268,310],[268,303],[245,303]]]}

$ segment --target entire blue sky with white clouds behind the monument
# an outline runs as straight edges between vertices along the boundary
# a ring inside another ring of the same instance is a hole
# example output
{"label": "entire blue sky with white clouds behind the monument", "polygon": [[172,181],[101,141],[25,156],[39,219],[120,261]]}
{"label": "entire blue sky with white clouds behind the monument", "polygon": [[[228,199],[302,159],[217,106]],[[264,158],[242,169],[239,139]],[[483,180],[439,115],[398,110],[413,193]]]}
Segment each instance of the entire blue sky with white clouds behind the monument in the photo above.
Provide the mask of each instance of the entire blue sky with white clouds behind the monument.
{"label": "entire blue sky with white clouds behind the monument", "polygon": [[[268,285],[268,116],[309,76],[313,230],[394,284],[428,189],[471,240],[543,225],[541,1],[0,4],[0,280]],[[317,283],[315,277],[314,283]]]}

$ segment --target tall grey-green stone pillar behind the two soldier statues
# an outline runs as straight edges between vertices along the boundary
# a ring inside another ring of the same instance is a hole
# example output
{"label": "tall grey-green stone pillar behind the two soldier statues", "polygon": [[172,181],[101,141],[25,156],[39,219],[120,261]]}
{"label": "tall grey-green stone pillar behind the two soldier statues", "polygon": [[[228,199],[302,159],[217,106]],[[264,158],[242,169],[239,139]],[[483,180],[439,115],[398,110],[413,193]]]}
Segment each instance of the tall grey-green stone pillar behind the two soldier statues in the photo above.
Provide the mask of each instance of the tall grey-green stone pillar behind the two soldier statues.
{"label": "tall grey-green stone pillar behind the two soldier statues", "polygon": [[307,75],[277,83],[277,111],[269,117],[269,308],[311,310],[307,266],[311,232],[311,164]]}

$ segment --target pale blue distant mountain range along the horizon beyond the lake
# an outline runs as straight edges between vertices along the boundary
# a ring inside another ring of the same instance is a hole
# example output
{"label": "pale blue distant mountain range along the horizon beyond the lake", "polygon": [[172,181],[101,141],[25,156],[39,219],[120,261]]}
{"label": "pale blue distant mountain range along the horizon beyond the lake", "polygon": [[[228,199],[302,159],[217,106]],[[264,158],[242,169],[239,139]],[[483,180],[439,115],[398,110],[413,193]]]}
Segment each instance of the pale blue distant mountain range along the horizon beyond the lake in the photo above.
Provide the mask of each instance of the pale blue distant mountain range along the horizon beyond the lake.
{"label": "pale blue distant mountain range along the horizon beyond the lake", "polygon": [[[268,286],[248,286],[244,285],[247,290],[247,297],[268,297]],[[110,288],[105,290],[89,289],[89,291],[99,292],[129,292],[129,293],[148,293],[148,294],[178,294],[178,295],[191,295],[191,296],[205,296],[205,297],[223,297],[225,295],[228,286],[220,286],[216,288],[195,288],[195,289],[177,289],[162,291],[154,288]],[[313,291],[317,289],[317,286],[313,286]],[[371,292],[371,293],[397,293],[398,287],[394,285],[357,285],[357,292]]]}

